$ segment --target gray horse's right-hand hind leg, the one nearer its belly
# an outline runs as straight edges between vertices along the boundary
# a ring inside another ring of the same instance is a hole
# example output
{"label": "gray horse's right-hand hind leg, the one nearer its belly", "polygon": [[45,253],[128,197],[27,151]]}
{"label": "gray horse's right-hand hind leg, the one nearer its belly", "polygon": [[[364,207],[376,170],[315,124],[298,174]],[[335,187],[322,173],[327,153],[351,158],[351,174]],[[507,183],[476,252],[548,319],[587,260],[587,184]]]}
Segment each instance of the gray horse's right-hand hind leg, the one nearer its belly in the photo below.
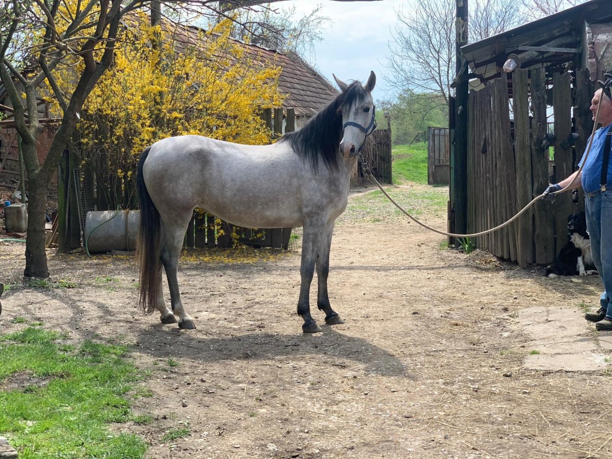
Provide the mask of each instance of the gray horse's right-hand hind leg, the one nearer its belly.
{"label": "gray horse's right-hand hind leg, the one nearer its belly", "polygon": [[185,312],[181,302],[181,292],[179,291],[179,281],[177,279],[179,257],[181,256],[187,224],[163,225],[161,256],[163,267],[166,270],[166,278],[168,278],[168,288],[170,288],[172,312],[179,316],[179,328],[195,329],[193,318]]}

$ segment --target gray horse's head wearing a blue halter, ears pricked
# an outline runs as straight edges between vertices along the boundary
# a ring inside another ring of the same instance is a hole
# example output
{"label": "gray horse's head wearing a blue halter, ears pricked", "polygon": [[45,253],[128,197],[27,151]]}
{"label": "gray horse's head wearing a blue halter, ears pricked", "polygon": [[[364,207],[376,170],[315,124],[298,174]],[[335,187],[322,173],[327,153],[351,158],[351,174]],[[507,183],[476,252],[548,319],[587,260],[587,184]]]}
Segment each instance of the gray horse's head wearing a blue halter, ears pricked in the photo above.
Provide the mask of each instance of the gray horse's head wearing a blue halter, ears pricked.
{"label": "gray horse's head wearing a blue halter, ears pricked", "polygon": [[343,137],[340,141],[340,154],[348,159],[356,156],[364,146],[365,138],[376,129],[374,103],[372,100],[372,89],[376,84],[376,75],[370,73],[370,78],[365,87],[356,81],[346,84],[338,80],[334,75],[336,83],[342,94],[341,105],[338,110],[342,113]]}

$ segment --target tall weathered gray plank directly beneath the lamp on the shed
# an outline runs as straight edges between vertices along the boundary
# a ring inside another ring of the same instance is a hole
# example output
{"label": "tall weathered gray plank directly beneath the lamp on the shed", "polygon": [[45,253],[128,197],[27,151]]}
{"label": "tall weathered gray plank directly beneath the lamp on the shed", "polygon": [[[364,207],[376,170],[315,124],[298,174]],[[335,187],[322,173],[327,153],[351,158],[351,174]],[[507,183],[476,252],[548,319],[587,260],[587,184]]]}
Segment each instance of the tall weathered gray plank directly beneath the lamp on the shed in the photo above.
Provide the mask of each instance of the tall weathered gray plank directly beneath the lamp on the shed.
{"label": "tall weathered gray plank directly beneath the lamp on the shed", "polygon": [[[529,144],[528,70],[516,69],[512,76],[514,149],[516,159],[517,211],[532,200],[531,147]],[[518,222],[517,261],[525,268],[534,262],[532,252],[533,211],[528,209]]]}

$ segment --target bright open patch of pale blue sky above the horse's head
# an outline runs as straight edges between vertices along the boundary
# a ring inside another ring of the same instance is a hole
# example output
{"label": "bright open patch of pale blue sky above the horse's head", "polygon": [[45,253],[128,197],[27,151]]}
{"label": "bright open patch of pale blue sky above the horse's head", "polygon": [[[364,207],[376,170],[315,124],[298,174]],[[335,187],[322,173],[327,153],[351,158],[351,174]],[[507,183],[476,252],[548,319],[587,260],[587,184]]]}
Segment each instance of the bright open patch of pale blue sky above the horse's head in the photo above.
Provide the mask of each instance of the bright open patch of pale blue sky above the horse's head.
{"label": "bright open patch of pale blue sky above the horse's head", "polygon": [[316,44],[316,69],[332,83],[334,73],[340,80],[359,80],[365,83],[370,70],[376,73],[375,100],[390,98],[384,76],[389,73],[385,65],[389,55],[390,29],[397,22],[397,10],[407,0],[381,0],[369,2],[337,2],[330,0],[294,0],[272,4],[272,7],[296,8],[296,18],[312,12],[318,5],[321,15],[332,19],[323,31],[323,42]]}

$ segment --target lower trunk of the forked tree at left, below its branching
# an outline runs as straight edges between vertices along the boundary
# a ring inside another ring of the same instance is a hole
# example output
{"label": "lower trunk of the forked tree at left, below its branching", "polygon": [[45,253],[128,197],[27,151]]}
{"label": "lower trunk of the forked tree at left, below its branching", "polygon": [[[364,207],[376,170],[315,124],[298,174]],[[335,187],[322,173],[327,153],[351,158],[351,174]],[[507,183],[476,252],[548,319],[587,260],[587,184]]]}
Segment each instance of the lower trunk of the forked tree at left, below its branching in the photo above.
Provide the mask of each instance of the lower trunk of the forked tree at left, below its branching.
{"label": "lower trunk of the forked tree at left, below its branching", "polygon": [[[47,278],[47,252],[45,252],[45,206],[47,204],[47,184],[38,177],[28,177],[28,238],[26,239],[26,277]],[[43,218],[40,218],[40,217]]]}

